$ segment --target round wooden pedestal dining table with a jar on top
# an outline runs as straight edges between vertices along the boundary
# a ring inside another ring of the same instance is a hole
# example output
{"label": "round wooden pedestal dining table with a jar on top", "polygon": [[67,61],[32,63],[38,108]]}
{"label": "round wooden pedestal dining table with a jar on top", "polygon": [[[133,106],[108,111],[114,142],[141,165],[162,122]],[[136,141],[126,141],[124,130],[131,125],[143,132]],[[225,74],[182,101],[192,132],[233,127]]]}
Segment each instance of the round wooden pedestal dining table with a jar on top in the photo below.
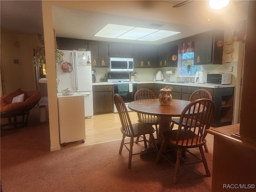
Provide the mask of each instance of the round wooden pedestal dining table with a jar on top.
{"label": "round wooden pedestal dining table with a jar on top", "polygon": [[172,117],[179,117],[188,104],[190,101],[173,99],[170,106],[162,106],[158,99],[143,99],[130,102],[128,108],[135,112],[157,116],[159,123],[157,138],[159,139],[162,132],[170,130]]}

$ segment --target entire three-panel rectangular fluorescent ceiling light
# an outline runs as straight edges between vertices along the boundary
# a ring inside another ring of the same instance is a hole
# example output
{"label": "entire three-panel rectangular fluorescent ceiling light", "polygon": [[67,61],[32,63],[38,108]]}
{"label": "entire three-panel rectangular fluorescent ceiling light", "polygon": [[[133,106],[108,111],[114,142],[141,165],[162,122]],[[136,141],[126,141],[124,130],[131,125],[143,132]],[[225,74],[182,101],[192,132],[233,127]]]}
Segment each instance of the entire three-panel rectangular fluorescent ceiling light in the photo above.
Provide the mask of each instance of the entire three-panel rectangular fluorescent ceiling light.
{"label": "entire three-panel rectangular fluorescent ceiling light", "polygon": [[180,32],[107,24],[94,36],[140,41],[156,41],[178,33]]}

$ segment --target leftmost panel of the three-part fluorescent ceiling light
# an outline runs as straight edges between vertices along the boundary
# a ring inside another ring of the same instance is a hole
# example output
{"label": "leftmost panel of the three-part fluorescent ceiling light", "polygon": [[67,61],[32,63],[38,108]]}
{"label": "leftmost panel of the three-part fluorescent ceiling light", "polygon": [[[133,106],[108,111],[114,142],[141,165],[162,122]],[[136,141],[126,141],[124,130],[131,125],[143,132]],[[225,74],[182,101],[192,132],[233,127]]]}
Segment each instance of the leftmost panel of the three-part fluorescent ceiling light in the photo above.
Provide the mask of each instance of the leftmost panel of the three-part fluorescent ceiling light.
{"label": "leftmost panel of the three-part fluorescent ceiling light", "polygon": [[132,30],[133,28],[134,27],[131,27],[131,26],[107,24],[104,28],[102,28],[94,36],[116,38],[116,37],[126,33],[127,31]]}

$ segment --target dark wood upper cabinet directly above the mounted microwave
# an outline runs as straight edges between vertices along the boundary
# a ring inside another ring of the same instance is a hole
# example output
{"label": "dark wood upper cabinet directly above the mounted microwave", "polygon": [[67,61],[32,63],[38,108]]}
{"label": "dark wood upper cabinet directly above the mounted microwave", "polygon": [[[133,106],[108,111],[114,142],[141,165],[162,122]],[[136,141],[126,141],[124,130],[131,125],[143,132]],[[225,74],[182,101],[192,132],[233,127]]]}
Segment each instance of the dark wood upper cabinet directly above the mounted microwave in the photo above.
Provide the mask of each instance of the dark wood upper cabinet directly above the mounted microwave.
{"label": "dark wood upper cabinet directly above the mounted microwave", "polygon": [[130,43],[109,43],[110,57],[133,57],[133,45]]}

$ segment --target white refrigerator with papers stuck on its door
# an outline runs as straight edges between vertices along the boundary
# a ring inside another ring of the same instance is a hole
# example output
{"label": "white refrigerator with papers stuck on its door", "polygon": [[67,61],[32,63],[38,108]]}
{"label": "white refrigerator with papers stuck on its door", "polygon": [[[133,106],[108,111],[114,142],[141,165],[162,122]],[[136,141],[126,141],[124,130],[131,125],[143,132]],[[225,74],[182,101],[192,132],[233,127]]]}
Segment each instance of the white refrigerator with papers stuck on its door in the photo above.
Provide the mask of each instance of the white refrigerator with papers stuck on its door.
{"label": "white refrigerator with papers stuck on its door", "polygon": [[92,66],[90,51],[59,50],[65,66],[56,64],[57,92],[71,89],[84,96],[84,116],[93,117]]}

